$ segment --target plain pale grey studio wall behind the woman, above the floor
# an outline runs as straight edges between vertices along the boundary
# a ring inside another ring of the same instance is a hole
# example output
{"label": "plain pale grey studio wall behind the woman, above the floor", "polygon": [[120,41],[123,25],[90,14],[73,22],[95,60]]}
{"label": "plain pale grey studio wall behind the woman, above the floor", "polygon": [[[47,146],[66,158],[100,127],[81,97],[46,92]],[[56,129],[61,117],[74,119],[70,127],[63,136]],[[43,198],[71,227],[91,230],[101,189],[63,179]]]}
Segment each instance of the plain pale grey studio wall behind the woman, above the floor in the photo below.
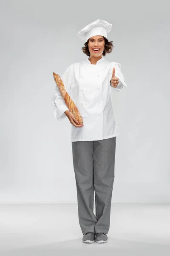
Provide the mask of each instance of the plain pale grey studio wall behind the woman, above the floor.
{"label": "plain pale grey studio wall behind the woman, above the floor", "polygon": [[0,202],[77,202],[71,123],[54,117],[53,71],[88,58],[77,37],[107,20],[127,88],[112,90],[112,202],[170,202],[168,1],[0,1]]}

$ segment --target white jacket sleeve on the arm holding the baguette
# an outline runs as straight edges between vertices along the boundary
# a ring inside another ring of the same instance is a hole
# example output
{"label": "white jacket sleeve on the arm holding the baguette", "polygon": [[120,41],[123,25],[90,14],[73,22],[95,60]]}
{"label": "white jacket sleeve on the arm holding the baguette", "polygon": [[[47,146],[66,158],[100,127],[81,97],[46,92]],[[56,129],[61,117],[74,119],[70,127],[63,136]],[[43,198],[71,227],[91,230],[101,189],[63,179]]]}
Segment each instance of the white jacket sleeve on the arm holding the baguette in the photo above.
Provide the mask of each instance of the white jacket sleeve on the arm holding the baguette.
{"label": "white jacket sleeve on the arm holding the baguette", "polygon": [[[66,92],[69,94],[71,91],[71,84],[74,79],[74,73],[73,73],[73,65],[71,64],[66,70],[65,73],[61,76],[62,82],[64,84]],[[70,94],[69,94],[70,95]],[[65,119],[65,111],[68,110],[68,107],[59,91],[59,88],[56,84],[54,88],[54,92],[51,96],[52,105],[54,107],[54,116],[57,120],[61,121]]]}

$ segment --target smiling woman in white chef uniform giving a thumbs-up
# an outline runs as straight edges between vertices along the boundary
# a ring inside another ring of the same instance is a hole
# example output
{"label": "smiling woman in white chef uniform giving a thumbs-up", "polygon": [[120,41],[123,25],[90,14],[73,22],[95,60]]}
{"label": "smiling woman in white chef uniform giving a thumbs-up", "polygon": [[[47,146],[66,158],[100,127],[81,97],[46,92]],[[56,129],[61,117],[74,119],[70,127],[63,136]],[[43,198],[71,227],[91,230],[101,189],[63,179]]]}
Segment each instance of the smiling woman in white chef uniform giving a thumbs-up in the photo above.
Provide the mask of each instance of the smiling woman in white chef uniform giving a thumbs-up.
{"label": "smiling woman in white chef uniform giving a thumbs-up", "polygon": [[80,30],[77,35],[85,40],[82,51],[89,58],[71,64],[61,77],[83,118],[83,125],[77,125],[57,86],[52,94],[54,116],[58,120],[67,116],[72,124],[78,215],[85,243],[108,241],[116,136],[119,135],[111,90],[121,91],[127,87],[120,64],[104,58],[113,49],[112,41],[107,39],[111,27],[107,21],[98,19]]}

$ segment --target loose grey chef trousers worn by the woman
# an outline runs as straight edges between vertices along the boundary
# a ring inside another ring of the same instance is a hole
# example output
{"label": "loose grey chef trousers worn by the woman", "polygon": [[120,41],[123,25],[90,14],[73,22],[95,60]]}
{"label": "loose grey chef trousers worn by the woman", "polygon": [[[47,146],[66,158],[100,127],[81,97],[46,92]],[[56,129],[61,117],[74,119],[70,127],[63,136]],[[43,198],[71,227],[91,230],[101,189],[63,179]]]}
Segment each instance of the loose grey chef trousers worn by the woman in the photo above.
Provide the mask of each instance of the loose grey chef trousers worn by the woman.
{"label": "loose grey chef trousers worn by the woman", "polygon": [[72,142],[79,224],[83,235],[86,232],[107,234],[109,231],[115,151],[116,137]]}

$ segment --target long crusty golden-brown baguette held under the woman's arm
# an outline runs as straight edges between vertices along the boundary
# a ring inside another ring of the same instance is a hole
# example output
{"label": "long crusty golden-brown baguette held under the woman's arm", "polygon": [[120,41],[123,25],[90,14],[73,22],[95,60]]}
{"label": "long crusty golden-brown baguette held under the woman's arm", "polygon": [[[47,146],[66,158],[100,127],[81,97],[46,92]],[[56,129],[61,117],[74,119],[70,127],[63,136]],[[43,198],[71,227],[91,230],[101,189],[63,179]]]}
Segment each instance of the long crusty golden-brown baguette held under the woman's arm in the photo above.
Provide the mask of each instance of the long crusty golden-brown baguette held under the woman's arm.
{"label": "long crusty golden-brown baguette held under the woman's arm", "polygon": [[53,72],[53,76],[54,76],[54,81],[56,82],[59,91],[62,95],[62,98],[65,101],[65,104],[67,105],[69,111],[74,115],[74,117],[77,119],[77,125],[82,125],[83,124],[83,119],[82,116],[80,115],[77,106],[75,105],[74,101],[71,99],[71,97],[69,96],[69,94],[66,92],[64,84],[62,82],[61,77]]}

